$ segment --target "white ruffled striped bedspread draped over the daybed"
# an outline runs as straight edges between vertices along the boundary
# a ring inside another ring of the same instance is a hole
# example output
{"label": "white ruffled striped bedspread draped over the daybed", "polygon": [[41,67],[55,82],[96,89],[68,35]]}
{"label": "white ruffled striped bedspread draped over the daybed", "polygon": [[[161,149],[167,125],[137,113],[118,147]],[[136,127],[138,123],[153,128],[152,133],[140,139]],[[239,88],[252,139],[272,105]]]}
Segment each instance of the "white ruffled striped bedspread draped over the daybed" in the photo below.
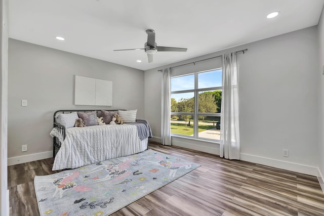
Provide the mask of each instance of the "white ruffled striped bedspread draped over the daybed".
{"label": "white ruffled striped bedspread draped over the daybed", "polygon": [[[56,132],[51,132],[51,136]],[[76,168],[147,149],[131,124],[96,125],[66,129],[66,137],[55,156],[52,170]]]}

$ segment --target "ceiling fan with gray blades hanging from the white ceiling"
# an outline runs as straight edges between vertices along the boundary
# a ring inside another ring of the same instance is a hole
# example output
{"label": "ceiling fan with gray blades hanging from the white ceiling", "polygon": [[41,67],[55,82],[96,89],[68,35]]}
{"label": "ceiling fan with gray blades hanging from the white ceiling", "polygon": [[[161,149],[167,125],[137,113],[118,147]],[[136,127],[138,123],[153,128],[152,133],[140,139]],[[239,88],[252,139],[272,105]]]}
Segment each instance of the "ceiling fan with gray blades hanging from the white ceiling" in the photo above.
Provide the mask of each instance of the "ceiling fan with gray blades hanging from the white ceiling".
{"label": "ceiling fan with gray blades hanging from the white ceiling", "polygon": [[[147,42],[144,48],[140,49],[126,49],[126,50],[145,50],[148,57],[148,63],[153,62],[153,54],[156,52],[186,52],[187,48],[176,48],[176,47],[158,47],[155,42],[155,31],[153,29],[147,29]],[[126,50],[114,50],[114,51],[126,51]]]}

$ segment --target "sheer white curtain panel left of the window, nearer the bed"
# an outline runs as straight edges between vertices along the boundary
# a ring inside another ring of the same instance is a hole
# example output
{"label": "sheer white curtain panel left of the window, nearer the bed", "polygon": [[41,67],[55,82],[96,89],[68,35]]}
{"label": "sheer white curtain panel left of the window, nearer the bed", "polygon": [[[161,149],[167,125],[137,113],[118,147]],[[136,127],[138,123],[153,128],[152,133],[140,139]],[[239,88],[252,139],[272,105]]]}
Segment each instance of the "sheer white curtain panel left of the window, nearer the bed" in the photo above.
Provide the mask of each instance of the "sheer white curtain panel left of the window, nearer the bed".
{"label": "sheer white curtain panel left of the window, nearer the bed", "polygon": [[170,112],[171,112],[171,70],[162,70],[162,109],[161,138],[162,144],[171,146]]}

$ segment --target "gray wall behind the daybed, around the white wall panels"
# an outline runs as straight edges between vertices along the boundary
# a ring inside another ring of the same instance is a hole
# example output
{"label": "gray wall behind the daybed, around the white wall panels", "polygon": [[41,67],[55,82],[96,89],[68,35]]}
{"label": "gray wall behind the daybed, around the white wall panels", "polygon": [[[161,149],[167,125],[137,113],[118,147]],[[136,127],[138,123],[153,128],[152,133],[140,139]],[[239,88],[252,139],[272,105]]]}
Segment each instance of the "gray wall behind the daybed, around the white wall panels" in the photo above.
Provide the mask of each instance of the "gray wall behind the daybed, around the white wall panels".
{"label": "gray wall behind the daybed, around the white wall panels", "polygon": [[[74,75],[112,81],[112,106],[75,106]],[[21,106],[26,99],[27,107]],[[138,109],[144,118],[144,72],[27,42],[9,40],[8,158],[51,151],[59,109]],[[27,144],[28,151],[21,152]]]}

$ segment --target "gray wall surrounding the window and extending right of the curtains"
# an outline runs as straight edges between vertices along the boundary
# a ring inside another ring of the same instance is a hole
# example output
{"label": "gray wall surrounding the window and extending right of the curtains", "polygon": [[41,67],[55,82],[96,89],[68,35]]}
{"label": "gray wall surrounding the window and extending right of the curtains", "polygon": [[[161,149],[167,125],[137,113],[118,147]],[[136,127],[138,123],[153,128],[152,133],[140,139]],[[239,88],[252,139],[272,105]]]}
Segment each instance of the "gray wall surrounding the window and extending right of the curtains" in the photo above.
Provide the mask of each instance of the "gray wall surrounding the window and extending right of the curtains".
{"label": "gray wall surrounding the window and extending right of the curtains", "polygon": [[[238,55],[241,157],[318,167],[317,47],[314,26],[161,68],[249,49]],[[161,68],[145,71],[145,118],[157,139],[161,125],[157,70]],[[218,144],[180,142],[219,154]],[[288,149],[290,156],[282,157],[282,149]]]}

